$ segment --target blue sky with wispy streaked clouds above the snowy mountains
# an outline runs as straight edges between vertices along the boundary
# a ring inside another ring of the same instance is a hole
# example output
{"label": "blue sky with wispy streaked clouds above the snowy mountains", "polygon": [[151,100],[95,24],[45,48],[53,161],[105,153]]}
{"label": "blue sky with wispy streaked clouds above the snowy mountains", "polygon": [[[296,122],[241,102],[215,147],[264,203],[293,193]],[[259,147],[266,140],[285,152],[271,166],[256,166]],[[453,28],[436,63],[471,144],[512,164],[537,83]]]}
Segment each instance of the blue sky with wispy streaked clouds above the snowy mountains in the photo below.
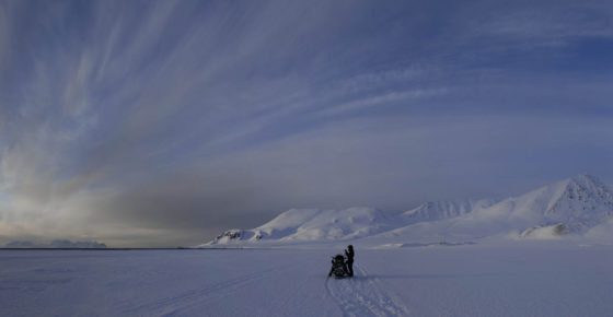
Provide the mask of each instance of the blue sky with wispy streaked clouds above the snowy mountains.
{"label": "blue sky with wispy streaked clouds above the snowy mountains", "polygon": [[609,1],[0,0],[0,244],[613,180]]}

